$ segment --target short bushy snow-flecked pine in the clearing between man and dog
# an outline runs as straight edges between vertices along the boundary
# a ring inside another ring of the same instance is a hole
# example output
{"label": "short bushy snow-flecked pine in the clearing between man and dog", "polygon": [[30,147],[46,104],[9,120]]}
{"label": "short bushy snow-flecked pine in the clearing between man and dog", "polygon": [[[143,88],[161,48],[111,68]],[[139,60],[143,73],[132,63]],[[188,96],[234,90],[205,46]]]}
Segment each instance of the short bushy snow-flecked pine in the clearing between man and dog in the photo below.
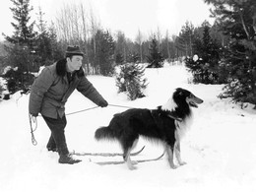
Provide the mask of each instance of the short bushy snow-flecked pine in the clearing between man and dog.
{"label": "short bushy snow-flecked pine in the clearing between man and dog", "polygon": [[120,71],[115,74],[118,93],[126,93],[131,100],[143,97],[143,90],[147,88],[145,68],[136,63],[126,63],[119,67]]}

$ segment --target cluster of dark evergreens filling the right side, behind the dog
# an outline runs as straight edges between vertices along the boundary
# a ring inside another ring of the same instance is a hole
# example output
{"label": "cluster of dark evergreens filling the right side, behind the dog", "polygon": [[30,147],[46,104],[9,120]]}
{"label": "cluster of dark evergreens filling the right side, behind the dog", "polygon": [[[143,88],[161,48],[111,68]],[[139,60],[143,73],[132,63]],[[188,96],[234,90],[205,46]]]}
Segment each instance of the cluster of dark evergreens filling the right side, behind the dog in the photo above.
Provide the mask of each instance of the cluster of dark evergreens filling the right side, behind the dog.
{"label": "cluster of dark evergreens filling the right side, behind the dog", "polygon": [[256,3],[255,0],[205,0],[213,5],[215,26],[204,23],[187,31],[186,65],[194,82],[225,84],[220,97],[256,104]]}

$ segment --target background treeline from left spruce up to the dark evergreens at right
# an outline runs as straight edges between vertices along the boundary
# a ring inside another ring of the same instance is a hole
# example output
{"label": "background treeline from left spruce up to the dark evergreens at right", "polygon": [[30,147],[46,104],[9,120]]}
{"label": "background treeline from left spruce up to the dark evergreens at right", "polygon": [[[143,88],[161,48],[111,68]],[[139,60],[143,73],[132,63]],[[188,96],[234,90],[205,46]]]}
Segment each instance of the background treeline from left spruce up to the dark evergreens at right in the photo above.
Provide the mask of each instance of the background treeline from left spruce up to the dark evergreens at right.
{"label": "background treeline from left spruce up to the dark evergreens at right", "polygon": [[135,40],[131,40],[124,32],[103,29],[94,11],[82,3],[64,5],[54,23],[47,24],[41,9],[37,20],[31,21],[30,0],[11,1],[15,32],[5,35],[1,69],[12,66],[23,72],[38,71],[40,66],[62,58],[68,44],[77,44],[86,53],[84,63],[88,73],[102,75],[109,75],[109,68],[115,64],[149,62],[150,47],[155,43],[156,51],[168,61],[193,54],[191,39],[186,36],[188,25],[192,25],[189,23],[178,36],[160,30],[146,36],[138,30]]}

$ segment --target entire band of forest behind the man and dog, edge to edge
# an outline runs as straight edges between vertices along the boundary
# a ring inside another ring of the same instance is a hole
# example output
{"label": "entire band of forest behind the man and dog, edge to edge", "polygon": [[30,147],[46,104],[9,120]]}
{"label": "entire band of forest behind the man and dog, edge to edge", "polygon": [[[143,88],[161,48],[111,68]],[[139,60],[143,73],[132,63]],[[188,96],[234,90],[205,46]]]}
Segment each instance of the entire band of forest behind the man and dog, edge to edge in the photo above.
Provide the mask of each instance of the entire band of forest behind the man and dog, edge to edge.
{"label": "entire band of forest behind the man and dog, edge to edge", "polygon": [[[113,76],[117,65],[147,63],[162,67],[184,61],[194,83],[224,84],[220,97],[256,104],[256,4],[254,0],[204,0],[213,6],[214,25],[205,21],[195,27],[187,21],[177,34],[138,30],[135,39],[124,32],[104,29],[92,9],[80,4],[65,5],[48,24],[38,9],[32,21],[30,0],[11,0],[12,35],[0,42],[0,74],[10,93],[29,89],[32,72],[64,57],[69,44],[86,53],[87,74]],[[0,92],[3,90],[0,88]]]}

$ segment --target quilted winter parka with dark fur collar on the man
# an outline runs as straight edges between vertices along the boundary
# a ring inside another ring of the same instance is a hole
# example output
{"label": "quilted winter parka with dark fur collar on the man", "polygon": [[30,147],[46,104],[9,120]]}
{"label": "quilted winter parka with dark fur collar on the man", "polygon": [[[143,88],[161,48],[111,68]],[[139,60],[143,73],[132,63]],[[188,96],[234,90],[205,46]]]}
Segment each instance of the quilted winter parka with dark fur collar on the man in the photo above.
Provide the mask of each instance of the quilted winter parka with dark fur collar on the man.
{"label": "quilted winter parka with dark fur collar on the man", "polygon": [[32,84],[30,113],[32,115],[41,113],[43,116],[55,119],[58,115],[62,117],[65,103],[75,89],[97,105],[104,100],[85,77],[82,67],[74,73],[70,83],[67,78],[66,59],[45,67]]}

